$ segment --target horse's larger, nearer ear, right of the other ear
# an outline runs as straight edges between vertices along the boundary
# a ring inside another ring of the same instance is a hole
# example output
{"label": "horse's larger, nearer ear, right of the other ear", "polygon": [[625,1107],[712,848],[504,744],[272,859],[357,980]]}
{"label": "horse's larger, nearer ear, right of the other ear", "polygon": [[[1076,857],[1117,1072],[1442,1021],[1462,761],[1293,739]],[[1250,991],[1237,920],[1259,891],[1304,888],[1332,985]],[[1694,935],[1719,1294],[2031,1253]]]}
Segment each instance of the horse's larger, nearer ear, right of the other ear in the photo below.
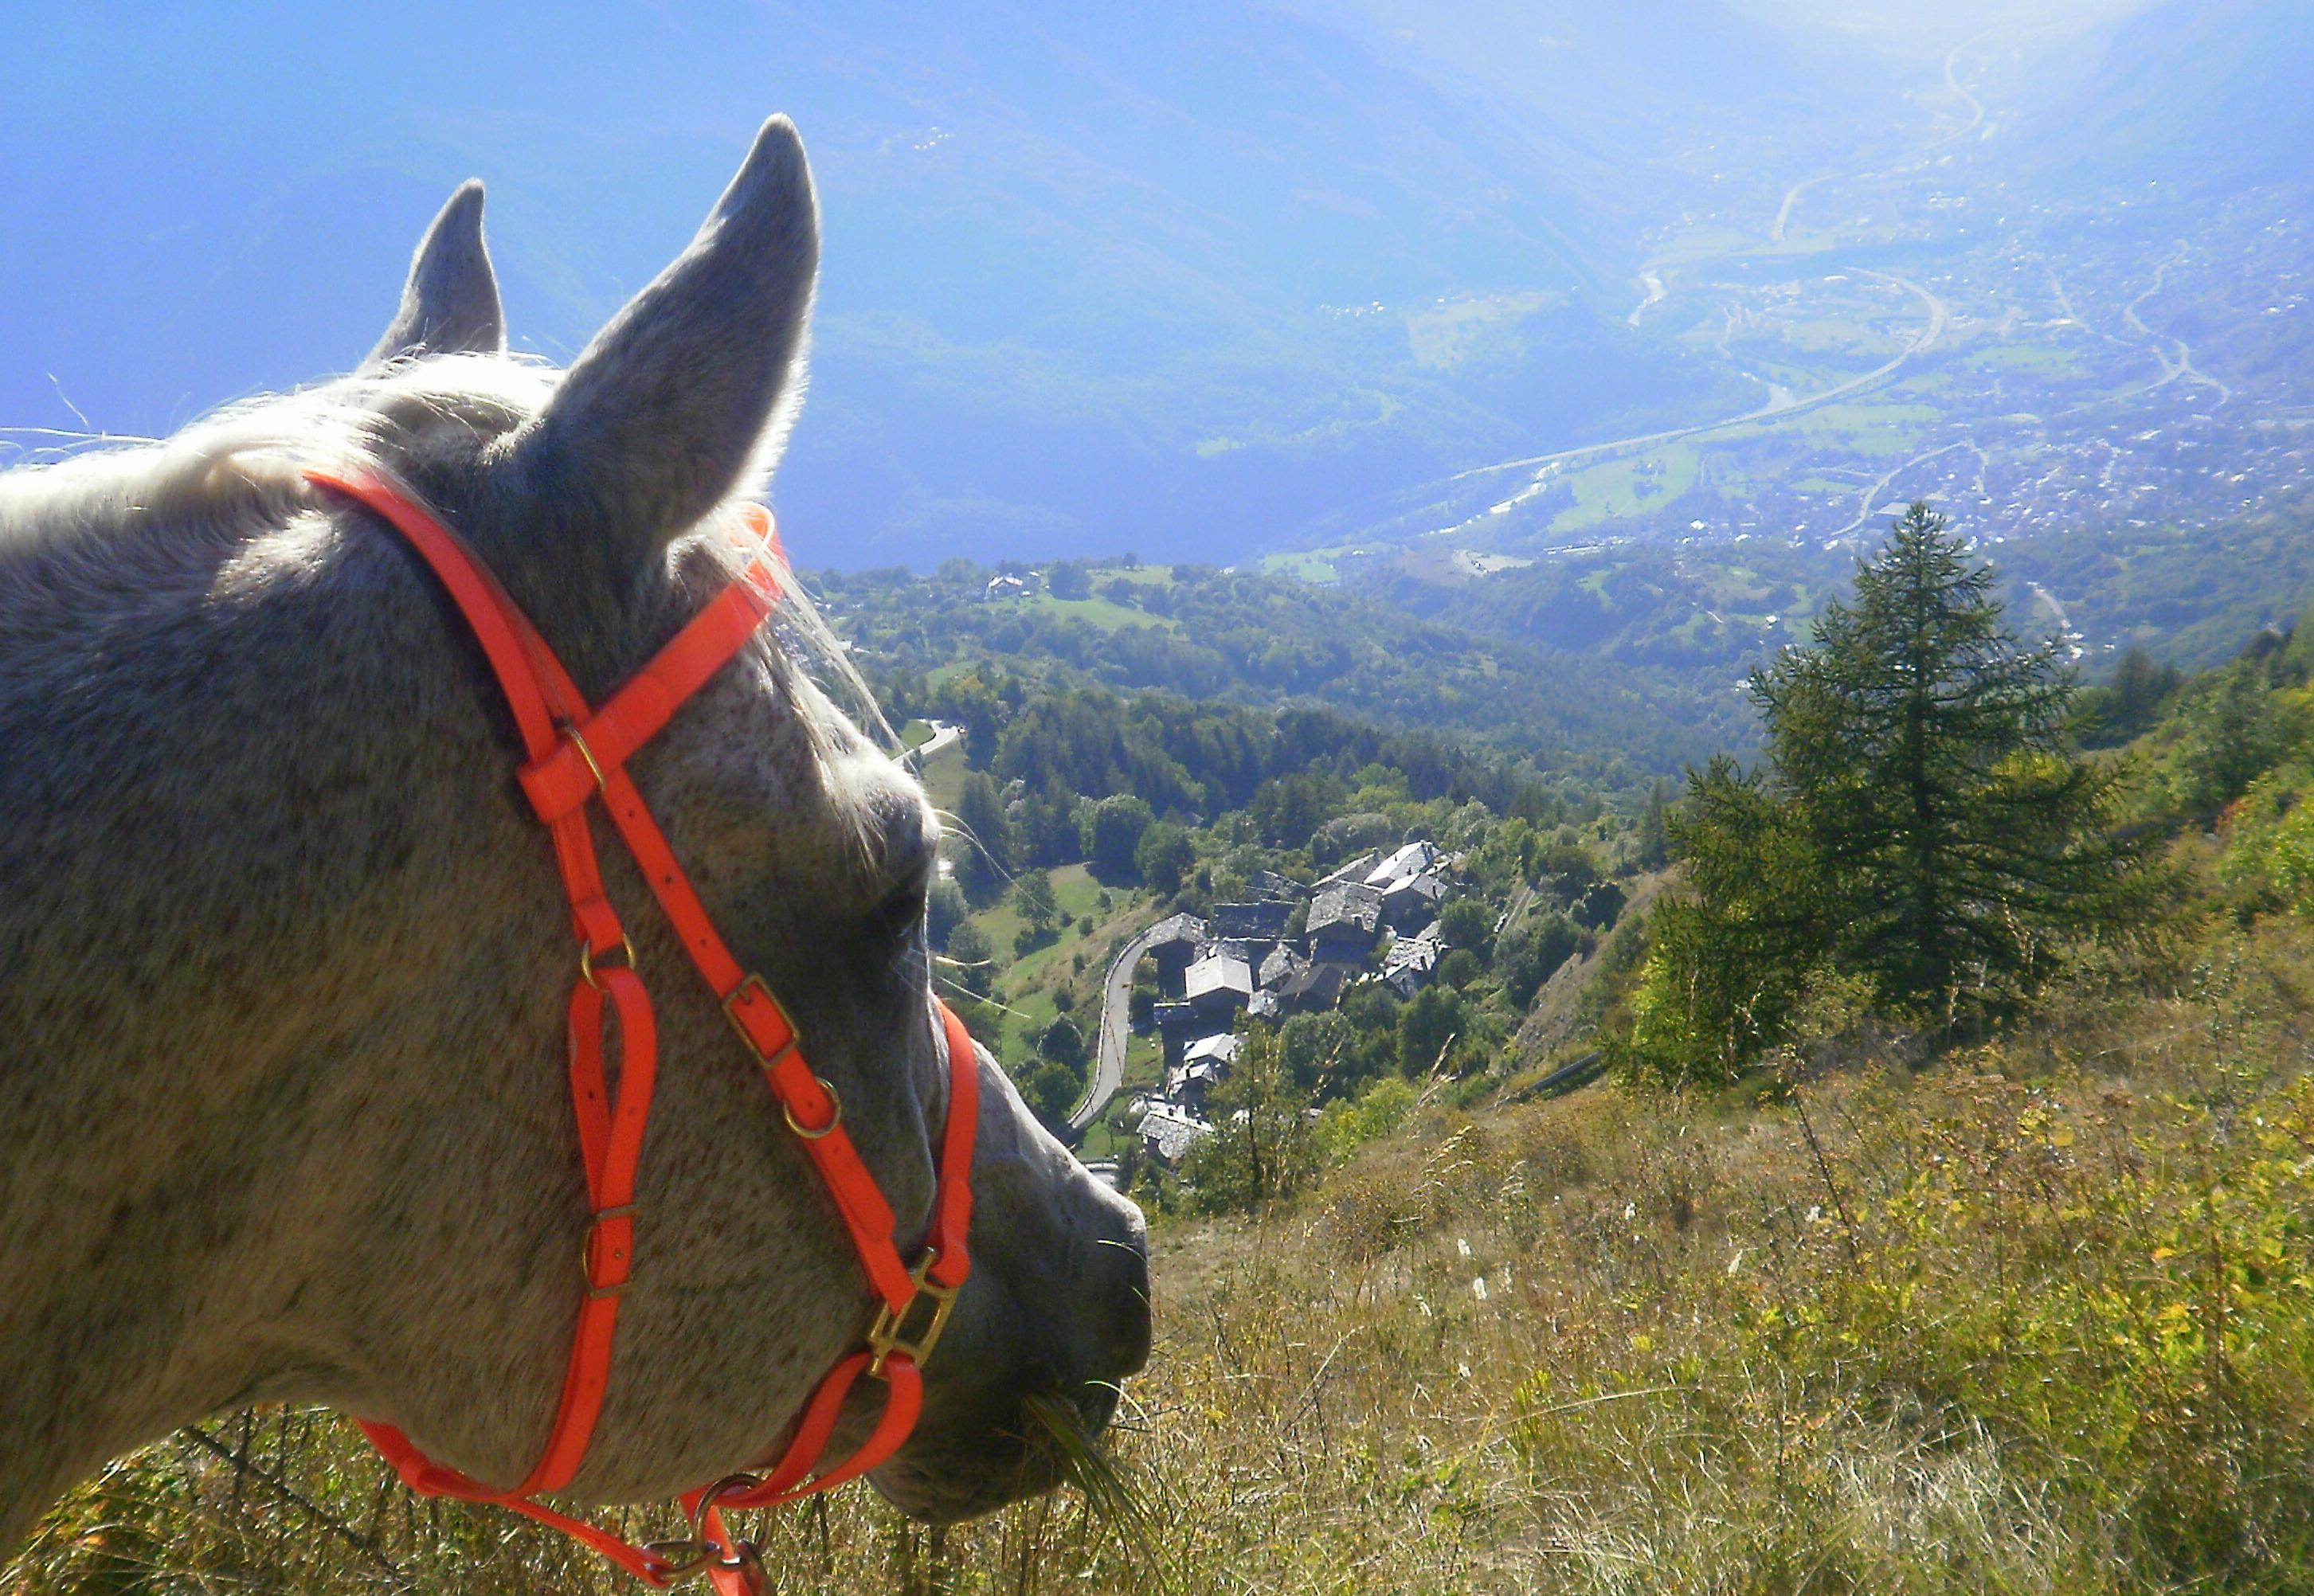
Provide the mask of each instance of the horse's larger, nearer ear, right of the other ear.
{"label": "horse's larger, nearer ear, right of the other ear", "polygon": [[616,562],[641,562],[759,481],[801,396],[817,273],[810,164],[775,116],[699,236],[516,439],[525,490]]}

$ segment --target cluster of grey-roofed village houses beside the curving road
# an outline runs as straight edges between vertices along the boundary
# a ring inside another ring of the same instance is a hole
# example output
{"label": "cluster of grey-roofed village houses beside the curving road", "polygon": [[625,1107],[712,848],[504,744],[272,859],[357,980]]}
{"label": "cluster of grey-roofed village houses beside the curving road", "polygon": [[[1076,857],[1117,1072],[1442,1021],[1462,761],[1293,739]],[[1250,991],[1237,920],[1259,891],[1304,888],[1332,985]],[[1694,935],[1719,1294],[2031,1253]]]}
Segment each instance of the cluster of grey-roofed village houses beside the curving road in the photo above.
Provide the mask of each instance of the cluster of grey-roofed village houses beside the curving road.
{"label": "cluster of grey-roofed village houses beside the curving road", "polygon": [[1148,1157],[1178,1163],[1210,1133],[1206,1094],[1238,1062],[1243,1015],[1275,1022],[1333,1008],[1358,981],[1381,981],[1398,997],[1428,985],[1446,953],[1439,907],[1449,891],[1451,863],[1428,842],[1407,842],[1354,858],[1317,886],[1261,872],[1245,902],[1152,928],[1164,1089],[1134,1103]]}

